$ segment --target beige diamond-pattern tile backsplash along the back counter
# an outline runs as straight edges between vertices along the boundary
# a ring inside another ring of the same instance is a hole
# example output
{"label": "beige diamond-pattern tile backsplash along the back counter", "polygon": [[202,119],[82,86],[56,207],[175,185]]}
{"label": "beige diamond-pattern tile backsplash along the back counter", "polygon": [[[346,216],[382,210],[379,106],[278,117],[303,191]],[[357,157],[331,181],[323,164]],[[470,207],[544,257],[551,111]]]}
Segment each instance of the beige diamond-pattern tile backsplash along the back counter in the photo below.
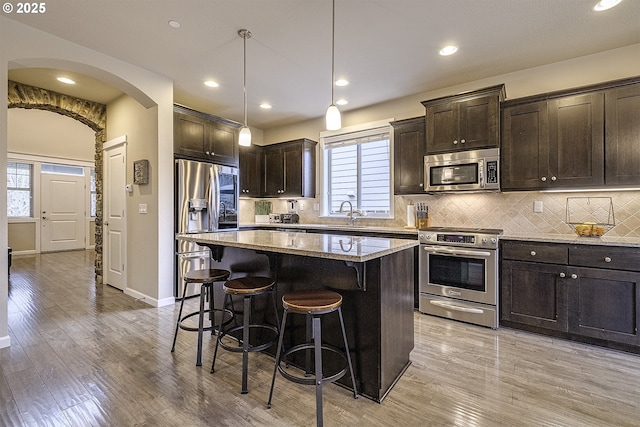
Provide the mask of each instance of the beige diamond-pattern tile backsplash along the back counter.
{"label": "beige diamond-pattern tile backsplash along the back counter", "polygon": [[[407,225],[407,205],[410,201],[424,202],[429,205],[432,226],[500,228],[506,233],[554,233],[573,234],[573,228],[567,225],[567,198],[590,197],[594,202],[602,203],[602,197],[610,197],[615,215],[615,226],[607,232],[609,236],[640,237],[640,191],[602,191],[541,193],[535,191],[512,193],[469,193],[438,194],[394,197],[394,219],[375,220],[358,219],[361,225],[383,227],[403,227]],[[270,199],[273,212],[287,212],[286,200]],[[240,222],[254,222],[255,199],[240,200]],[[534,212],[534,203],[542,202],[542,212]],[[298,209],[301,223],[346,224],[347,218],[322,218],[313,210],[319,199],[300,199],[303,209]],[[585,204],[587,202],[585,201]],[[574,206],[572,218],[575,217]],[[590,206],[590,205],[589,205]],[[608,205],[607,205],[608,206]],[[584,208],[579,208],[584,209]],[[603,222],[600,207],[594,219],[582,219],[585,212],[578,214],[583,221]],[[577,214],[577,213],[576,213]],[[613,222],[613,217],[611,222]]]}

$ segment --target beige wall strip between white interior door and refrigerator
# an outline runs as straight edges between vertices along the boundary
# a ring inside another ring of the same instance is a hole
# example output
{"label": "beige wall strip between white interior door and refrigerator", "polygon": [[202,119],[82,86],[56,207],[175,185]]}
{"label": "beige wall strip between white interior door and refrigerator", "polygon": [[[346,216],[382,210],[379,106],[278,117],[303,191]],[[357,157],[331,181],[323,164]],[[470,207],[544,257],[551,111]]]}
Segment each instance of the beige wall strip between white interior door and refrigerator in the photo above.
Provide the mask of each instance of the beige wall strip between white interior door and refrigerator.
{"label": "beige wall strip between white interior door and refrigerator", "polygon": [[[134,185],[133,193],[127,193],[125,218],[127,254],[131,254],[127,256],[127,287],[129,291],[153,295],[158,286],[157,271],[153,268],[158,252],[157,109],[146,109],[130,96],[123,95],[107,105],[107,118],[107,141],[127,136],[126,183],[133,184],[134,161],[147,159],[151,165],[149,184]],[[147,214],[138,213],[141,203],[147,205]],[[166,225],[173,232],[173,223]]]}

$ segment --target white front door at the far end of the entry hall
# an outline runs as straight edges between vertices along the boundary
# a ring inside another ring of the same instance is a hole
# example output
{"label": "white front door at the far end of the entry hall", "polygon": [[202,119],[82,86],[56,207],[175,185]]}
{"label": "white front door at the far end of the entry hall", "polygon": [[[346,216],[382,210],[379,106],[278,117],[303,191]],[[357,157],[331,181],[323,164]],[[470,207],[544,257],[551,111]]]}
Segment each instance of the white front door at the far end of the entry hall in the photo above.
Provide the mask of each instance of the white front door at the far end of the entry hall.
{"label": "white front door at the far end of the entry hall", "polygon": [[42,174],[40,183],[40,250],[84,249],[85,177]]}

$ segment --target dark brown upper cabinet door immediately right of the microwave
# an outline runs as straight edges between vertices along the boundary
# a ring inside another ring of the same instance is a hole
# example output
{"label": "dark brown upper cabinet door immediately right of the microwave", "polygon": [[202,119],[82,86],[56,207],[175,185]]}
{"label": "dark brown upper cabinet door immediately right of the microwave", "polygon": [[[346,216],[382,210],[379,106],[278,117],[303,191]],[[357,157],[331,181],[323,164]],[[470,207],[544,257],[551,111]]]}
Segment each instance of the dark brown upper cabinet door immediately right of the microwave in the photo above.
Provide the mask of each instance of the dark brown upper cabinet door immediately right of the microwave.
{"label": "dark brown upper cabinet door immediately right of the microwave", "polygon": [[[500,164],[503,190],[546,188],[549,123],[547,103],[507,107],[502,111]],[[541,170],[541,166],[542,169]]]}

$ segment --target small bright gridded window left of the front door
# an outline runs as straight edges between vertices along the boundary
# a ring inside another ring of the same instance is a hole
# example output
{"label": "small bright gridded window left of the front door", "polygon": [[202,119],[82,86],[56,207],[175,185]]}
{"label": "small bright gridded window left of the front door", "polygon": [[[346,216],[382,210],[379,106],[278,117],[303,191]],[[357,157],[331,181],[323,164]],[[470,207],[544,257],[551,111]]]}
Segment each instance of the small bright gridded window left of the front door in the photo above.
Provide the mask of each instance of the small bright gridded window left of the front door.
{"label": "small bright gridded window left of the front door", "polygon": [[7,162],[7,216],[33,217],[33,165]]}

